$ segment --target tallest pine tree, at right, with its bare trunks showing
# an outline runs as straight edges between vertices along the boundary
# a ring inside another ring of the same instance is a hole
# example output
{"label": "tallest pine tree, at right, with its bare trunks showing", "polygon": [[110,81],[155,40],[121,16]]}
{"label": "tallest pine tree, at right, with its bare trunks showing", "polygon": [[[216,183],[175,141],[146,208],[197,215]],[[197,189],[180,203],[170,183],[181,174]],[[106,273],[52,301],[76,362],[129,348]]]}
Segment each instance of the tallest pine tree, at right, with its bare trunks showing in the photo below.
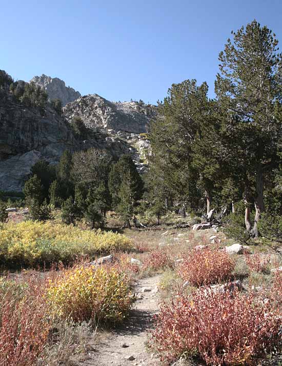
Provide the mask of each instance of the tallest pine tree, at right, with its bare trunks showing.
{"label": "tallest pine tree, at right, with its bare trunks showing", "polygon": [[[282,101],[282,58],[275,35],[256,21],[232,32],[232,36],[219,54],[215,90],[221,107],[228,111],[226,143],[236,152],[233,166],[244,185],[246,228],[258,236],[257,224],[265,208],[264,181],[277,164],[281,135],[274,109]],[[253,226],[252,200],[256,212]]]}

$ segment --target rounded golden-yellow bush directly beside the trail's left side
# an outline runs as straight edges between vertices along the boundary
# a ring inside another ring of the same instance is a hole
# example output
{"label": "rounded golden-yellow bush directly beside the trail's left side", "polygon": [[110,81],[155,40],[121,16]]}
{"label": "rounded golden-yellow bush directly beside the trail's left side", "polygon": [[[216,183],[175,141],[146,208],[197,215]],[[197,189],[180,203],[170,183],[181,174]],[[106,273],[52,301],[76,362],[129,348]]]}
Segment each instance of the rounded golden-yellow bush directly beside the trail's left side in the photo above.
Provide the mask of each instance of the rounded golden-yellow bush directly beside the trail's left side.
{"label": "rounded golden-yellow bush directly beside the trail's left side", "polygon": [[129,281],[115,268],[80,266],[50,281],[47,291],[55,316],[73,321],[118,322],[130,309]]}

